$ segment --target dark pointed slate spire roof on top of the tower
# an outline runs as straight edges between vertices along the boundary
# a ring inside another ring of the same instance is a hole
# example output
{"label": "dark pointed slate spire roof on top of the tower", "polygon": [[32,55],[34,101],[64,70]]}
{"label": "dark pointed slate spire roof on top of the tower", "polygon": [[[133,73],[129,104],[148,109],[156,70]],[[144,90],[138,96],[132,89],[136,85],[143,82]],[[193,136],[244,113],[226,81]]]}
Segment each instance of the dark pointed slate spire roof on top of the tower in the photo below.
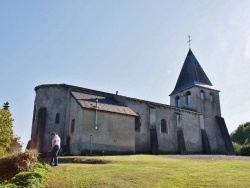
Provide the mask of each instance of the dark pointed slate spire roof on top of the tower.
{"label": "dark pointed slate spire roof on top of the tower", "polygon": [[176,94],[194,85],[213,88],[206,73],[200,66],[191,49],[189,49],[174,91],[170,95]]}

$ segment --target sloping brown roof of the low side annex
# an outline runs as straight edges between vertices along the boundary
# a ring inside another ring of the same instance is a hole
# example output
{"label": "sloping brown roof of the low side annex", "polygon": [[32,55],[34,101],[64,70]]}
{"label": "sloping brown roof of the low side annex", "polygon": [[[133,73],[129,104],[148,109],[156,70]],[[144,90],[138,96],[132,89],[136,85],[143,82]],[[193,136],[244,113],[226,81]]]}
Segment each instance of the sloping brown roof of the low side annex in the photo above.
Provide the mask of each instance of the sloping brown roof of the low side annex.
{"label": "sloping brown roof of the low side annex", "polygon": [[131,108],[117,102],[110,96],[99,96],[86,94],[82,92],[71,92],[71,95],[76,99],[82,108],[96,109],[96,99],[98,99],[98,110],[138,116]]}

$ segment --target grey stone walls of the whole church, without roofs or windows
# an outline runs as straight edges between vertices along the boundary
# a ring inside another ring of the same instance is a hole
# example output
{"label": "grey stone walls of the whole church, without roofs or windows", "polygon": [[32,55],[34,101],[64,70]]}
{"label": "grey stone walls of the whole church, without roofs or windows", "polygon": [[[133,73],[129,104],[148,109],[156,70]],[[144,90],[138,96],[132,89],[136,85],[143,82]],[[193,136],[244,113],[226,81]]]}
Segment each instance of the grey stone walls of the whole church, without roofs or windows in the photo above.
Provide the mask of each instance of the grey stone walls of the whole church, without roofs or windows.
{"label": "grey stone walls of the whole church, without roofs or windows", "polygon": [[[36,87],[31,137],[40,152],[50,149],[50,132],[57,132],[62,138],[63,147],[74,155],[100,151],[180,153],[181,140],[187,153],[202,153],[202,129],[206,131],[212,153],[226,153],[225,142],[215,119],[215,116],[220,116],[219,93],[213,92],[214,102],[211,102],[208,98],[210,90],[203,88],[205,99],[201,100],[200,89],[193,87],[187,90],[192,94],[191,103],[187,104],[183,95],[179,103],[183,108],[179,108],[64,84],[41,85]],[[140,116],[137,119],[139,128],[135,128],[134,116],[98,110],[98,128],[95,129],[96,111],[82,108],[71,97],[70,91],[114,97]],[[177,95],[181,96],[181,93]],[[171,104],[175,96],[171,96]],[[39,111],[43,112],[40,116]],[[56,120],[57,114],[59,122]],[[45,122],[42,121],[43,117]],[[162,119],[166,121],[166,132],[161,130]],[[182,139],[178,139],[178,131],[181,131]]]}

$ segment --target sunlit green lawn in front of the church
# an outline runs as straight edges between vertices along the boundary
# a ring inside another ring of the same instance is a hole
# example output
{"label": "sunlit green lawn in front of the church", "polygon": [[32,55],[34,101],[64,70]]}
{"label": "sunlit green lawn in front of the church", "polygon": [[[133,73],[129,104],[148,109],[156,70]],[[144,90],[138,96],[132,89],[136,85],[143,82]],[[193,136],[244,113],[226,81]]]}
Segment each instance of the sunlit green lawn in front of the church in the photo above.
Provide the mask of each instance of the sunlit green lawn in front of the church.
{"label": "sunlit green lawn in front of the church", "polygon": [[[84,157],[85,158],[85,157]],[[250,161],[130,155],[53,167],[42,187],[250,187]]]}

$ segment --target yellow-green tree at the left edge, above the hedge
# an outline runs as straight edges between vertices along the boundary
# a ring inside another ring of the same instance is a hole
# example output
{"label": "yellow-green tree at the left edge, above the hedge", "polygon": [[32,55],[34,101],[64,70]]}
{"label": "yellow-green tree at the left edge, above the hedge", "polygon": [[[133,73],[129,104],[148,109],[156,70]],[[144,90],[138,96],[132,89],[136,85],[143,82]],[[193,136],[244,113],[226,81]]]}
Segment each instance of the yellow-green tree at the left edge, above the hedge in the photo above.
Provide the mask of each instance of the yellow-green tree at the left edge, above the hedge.
{"label": "yellow-green tree at the left edge, above the hedge", "polygon": [[0,108],[0,156],[4,155],[10,148],[13,138],[13,119],[9,112],[9,103],[6,102],[3,107],[3,109]]}

